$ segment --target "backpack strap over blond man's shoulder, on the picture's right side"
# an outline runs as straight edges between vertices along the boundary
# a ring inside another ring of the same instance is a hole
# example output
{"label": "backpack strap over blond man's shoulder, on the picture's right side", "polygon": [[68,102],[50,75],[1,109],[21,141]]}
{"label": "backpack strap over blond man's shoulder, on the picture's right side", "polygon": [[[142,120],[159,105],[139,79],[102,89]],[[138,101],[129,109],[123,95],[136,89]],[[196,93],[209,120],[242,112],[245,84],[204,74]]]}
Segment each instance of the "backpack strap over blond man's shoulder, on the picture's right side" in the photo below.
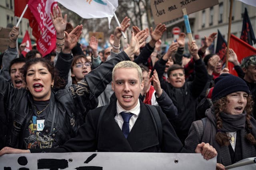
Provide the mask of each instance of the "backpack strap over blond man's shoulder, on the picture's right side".
{"label": "backpack strap over blond man's shoulder, on the picture's right side", "polygon": [[159,141],[159,147],[160,147],[160,146],[162,146],[163,130],[162,130],[162,122],[161,122],[159,113],[155,106],[148,105],[148,104],[146,104],[146,106],[148,107],[148,110],[150,111],[150,115],[154,119],[154,125],[158,132],[158,141]]}

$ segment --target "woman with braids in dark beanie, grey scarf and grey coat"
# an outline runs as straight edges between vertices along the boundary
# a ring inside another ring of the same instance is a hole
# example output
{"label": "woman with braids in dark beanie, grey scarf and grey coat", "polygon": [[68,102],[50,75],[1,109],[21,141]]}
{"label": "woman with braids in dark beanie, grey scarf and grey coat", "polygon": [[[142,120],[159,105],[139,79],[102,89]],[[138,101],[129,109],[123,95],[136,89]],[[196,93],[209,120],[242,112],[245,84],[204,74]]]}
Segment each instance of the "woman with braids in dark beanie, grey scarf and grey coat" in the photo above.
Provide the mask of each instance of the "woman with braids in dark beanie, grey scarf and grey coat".
{"label": "woman with braids in dark beanie, grey scarf and grey coat", "polygon": [[213,106],[206,118],[194,121],[185,141],[186,149],[210,143],[218,152],[216,169],[256,156],[256,120],[251,116],[252,98],[244,80],[221,74],[212,91]]}

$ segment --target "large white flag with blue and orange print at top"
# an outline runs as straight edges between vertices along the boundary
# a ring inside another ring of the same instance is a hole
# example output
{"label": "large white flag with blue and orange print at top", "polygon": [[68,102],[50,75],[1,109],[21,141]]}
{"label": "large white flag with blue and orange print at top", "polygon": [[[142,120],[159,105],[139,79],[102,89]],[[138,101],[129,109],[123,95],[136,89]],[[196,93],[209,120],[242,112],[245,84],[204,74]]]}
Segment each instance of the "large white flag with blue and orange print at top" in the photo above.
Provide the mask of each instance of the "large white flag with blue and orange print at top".
{"label": "large white flag with blue and orange print at top", "polygon": [[57,2],[82,18],[112,18],[118,6],[118,0],[57,0]]}

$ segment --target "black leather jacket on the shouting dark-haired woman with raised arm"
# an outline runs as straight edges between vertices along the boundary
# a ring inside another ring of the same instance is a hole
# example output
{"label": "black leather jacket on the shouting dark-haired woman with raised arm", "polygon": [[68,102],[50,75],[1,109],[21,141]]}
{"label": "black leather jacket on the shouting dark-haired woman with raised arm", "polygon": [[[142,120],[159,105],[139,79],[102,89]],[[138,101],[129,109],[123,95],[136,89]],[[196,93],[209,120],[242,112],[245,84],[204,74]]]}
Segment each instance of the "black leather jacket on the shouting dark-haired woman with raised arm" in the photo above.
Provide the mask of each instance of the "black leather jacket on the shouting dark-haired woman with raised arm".
{"label": "black leather jacket on the shouting dark-haired woman with raised arm", "polygon": [[[58,145],[74,137],[77,129],[84,123],[86,113],[97,107],[96,98],[112,80],[112,68],[124,60],[130,59],[126,53],[119,53],[92,70],[78,84],[57,92],[52,91],[42,134],[50,134]],[[7,132],[1,132],[6,133],[6,145],[26,149],[22,146],[22,141],[24,131],[34,113],[32,95],[24,88],[13,88],[0,77],[0,103],[4,103],[4,113],[2,111],[0,114],[5,114],[8,126]]]}

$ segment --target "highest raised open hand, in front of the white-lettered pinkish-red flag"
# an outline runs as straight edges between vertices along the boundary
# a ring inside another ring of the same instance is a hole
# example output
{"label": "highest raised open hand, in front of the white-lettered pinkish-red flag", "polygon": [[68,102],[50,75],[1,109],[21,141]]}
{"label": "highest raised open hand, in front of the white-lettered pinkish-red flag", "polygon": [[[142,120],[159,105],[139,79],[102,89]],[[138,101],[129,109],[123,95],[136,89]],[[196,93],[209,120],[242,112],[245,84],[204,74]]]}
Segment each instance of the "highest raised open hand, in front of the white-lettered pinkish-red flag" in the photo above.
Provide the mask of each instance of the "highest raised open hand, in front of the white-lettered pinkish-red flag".
{"label": "highest raised open hand, in front of the white-lettered pinkish-red flag", "polygon": [[52,18],[52,24],[56,30],[57,38],[62,39],[64,37],[64,31],[66,29],[67,24],[67,14],[65,14],[64,18],[62,17],[60,7],[53,8],[52,13],[50,13]]}

